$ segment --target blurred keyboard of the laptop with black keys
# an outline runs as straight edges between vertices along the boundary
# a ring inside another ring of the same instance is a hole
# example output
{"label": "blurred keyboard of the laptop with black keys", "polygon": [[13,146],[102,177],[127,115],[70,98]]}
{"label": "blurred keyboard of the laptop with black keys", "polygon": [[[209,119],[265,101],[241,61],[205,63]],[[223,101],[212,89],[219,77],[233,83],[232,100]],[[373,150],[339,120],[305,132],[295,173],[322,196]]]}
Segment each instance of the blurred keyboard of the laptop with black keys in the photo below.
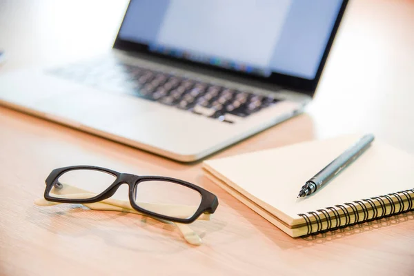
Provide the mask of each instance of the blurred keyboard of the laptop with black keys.
{"label": "blurred keyboard of the laptop with black keys", "polygon": [[51,70],[53,75],[128,93],[166,106],[234,123],[280,101],[214,83],[178,77],[125,63],[79,63]]}

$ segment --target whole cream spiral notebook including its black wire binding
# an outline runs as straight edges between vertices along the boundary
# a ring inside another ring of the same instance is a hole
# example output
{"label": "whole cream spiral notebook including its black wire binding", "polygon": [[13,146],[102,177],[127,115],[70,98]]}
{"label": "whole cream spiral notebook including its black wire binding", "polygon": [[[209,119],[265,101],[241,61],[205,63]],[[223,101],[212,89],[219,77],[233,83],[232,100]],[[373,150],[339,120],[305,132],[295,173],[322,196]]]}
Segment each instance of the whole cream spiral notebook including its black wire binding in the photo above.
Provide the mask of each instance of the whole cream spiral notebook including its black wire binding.
{"label": "whole cream spiral notebook including its black wire binding", "polygon": [[413,210],[414,157],[377,139],[317,193],[296,198],[308,179],[360,137],[207,160],[203,168],[216,184],[292,237]]}

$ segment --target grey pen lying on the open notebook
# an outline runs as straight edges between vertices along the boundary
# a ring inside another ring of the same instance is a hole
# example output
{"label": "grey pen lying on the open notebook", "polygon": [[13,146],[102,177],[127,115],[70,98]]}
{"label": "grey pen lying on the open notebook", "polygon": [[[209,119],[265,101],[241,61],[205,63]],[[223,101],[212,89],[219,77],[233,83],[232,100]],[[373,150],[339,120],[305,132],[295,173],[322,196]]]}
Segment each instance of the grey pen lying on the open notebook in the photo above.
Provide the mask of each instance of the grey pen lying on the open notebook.
{"label": "grey pen lying on the open notebook", "polygon": [[328,166],[323,168],[318,172],[314,177],[306,181],[306,184],[302,186],[299,191],[299,197],[306,197],[315,193],[315,191],[335,177],[341,170],[350,165],[355,159],[362,155],[362,153],[371,145],[371,142],[374,140],[374,135],[368,134],[364,135],[359,139],[353,146],[345,150],[342,155],[339,155],[335,160],[333,160]]}

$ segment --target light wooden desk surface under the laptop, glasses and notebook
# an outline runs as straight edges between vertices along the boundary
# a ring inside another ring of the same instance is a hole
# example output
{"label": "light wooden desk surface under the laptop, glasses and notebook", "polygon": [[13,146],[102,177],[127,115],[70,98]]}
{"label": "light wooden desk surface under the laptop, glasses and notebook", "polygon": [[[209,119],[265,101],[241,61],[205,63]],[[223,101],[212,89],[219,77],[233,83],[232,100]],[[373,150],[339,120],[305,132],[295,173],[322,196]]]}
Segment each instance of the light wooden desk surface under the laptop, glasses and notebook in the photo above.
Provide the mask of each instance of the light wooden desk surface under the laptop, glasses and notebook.
{"label": "light wooden desk surface under the laptop, glasses and notebook", "polygon": [[[125,6],[3,1],[0,47],[9,61],[0,73],[108,50]],[[306,114],[214,158],[353,131],[372,131],[414,154],[413,30],[413,1],[352,1]],[[139,215],[34,206],[50,170],[75,164],[168,175],[211,190],[217,213],[192,226],[204,244],[190,246],[176,228]],[[0,168],[0,275],[414,274],[414,213],[293,239],[208,181],[201,164],[178,164],[6,108]]]}

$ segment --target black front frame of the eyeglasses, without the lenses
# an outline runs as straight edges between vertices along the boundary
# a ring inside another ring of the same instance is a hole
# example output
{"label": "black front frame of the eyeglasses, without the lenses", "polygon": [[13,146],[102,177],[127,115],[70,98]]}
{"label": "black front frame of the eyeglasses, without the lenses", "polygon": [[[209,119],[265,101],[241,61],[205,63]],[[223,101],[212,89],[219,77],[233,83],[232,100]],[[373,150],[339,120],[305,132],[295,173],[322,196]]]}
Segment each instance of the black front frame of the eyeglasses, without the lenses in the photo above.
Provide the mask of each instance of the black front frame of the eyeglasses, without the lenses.
{"label": "black front frame of the eyeglasses, without the lenses", "polygon": [[[63,173],[71,171],[71,170],[97,170],[100,172],[106,172],[110,175],[113,175],[116,177],[115,181],[106,188],[102,193],[99,195],[96,195],[95,197],[92,197],[90,199],[66,199],[66,198],[58,198],[58,197],[52,197],[49,195],[50,190],[52,190],[52,187],[55,185],[59,185],[59,177],[63,175]],[[149,210],[143,209],[139,207],[137,204],[135,204],[134,200],[134,193],[139,185],[140,182],[143,181],[167,181],[171,182],[173,184],[179,184],[182,186],[186,186],[187,188],[191,188],[193,190],[196,190],[201,195],[201,202],[199,204],[199,208],[197,208],[196,212],[193,216],[188,217],[186,219],[178,218],[178,217],[169,217],[166,215],[160,215],[157,213],[153,213]],[[116,172],[115,170],[110,170],[108,168],[101,168],[97,166],[69,166],[69,167],[63,167],[63,168],[56,168],[55,170],[52,170],[50,172],[50,175],[46,178],[46,189],[44,193],[44,197],[48,201],[52,202],[59,202],[59,203],[71,203],[71,204],[88,204],[88,203],[95,203],[98,201],[102,201],[104,199],[108,199],[114,195],[119,186],[122,184],[128,184],[129,190],[128,190],[128,197],[130,204],[132,208],[137,210],[140,213],[143,213],[145,215],[150,215],[151,217],[159,218],[159,219],[166,219],[169,221],[179,222],[181,224],[190,224],[197,217],[204,213],[213,214],[215,210],[217,209],[217,206],[219,206],[219,200],[217,199],[217,196],[215,196],[213,193],[208,192],[208,190],[204,190],[204,188],[201,188],[195,184],[191,184],[187,181],[175,179],[172,177],[159,177],[159,176],[139,176],[139,175],[132,175],[129,173],[121,173]]]}

